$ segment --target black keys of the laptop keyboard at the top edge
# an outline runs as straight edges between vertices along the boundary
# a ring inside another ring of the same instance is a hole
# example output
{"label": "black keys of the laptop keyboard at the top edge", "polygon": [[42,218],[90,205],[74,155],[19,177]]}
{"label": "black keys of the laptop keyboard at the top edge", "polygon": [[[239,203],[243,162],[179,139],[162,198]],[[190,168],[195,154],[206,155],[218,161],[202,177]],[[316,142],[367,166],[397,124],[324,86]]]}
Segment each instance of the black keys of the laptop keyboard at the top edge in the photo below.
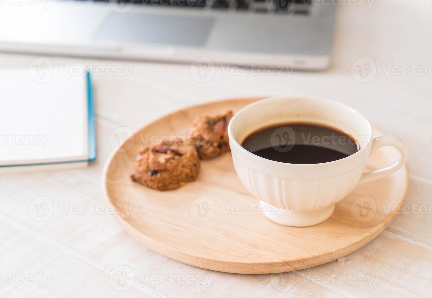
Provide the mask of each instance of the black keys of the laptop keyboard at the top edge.
{"label": "black keys of the laptop keyboard at the top edge", "polygon": [[[88,1],[108,2],[110,0]],[[233,10],[253,13],[286,13],[299,16],[308,16],[311,9],[310,0],[117,0],[117,2],[129,2],[144,6],[195,7],[218,11]]]}

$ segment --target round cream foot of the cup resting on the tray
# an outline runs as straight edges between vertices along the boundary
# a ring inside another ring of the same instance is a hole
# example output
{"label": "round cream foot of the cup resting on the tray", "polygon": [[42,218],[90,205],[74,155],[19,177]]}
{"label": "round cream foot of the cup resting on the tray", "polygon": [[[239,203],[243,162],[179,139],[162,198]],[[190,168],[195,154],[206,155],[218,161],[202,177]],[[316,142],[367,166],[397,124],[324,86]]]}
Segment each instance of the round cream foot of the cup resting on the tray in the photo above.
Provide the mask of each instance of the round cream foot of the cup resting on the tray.
{"label": "round cream foot of the cup resting on the tray", "polygon": [[264,207],[264,215],[268,219],[276,224],[291,227],[308,227],[314,224],[319,224],[329,218],[333,214],[335,208],[335,204],[333,204],[311,211],[295,211],[276,207],[263,201],[260,201],[260,205]]}

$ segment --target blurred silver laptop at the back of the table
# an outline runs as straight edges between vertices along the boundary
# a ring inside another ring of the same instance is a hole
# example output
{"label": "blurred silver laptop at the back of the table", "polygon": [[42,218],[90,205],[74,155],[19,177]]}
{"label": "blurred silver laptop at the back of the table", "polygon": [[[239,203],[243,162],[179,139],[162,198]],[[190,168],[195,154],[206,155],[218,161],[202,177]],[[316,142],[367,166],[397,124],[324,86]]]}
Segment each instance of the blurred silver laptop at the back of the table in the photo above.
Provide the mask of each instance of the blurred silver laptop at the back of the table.
{"label": "blurred silver laptop at the back of the table", "polygon": [[336,5],[310,0],[6,0],[0,51],[289,66],[330,63]]}

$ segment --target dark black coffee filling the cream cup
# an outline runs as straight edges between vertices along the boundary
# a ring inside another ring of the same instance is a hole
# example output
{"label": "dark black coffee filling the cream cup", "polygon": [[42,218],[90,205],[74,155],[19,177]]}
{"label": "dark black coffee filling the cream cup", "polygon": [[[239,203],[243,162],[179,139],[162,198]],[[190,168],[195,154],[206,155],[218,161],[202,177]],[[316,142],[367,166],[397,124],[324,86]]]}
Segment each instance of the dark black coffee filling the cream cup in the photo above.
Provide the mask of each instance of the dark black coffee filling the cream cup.
{"label": "dark black coffee filling the cream cup", "polygon": [[326,163],[359,151],[352,136],[335,128],[304,123],[261,128],[246,138],[243,147],[283,163]]}

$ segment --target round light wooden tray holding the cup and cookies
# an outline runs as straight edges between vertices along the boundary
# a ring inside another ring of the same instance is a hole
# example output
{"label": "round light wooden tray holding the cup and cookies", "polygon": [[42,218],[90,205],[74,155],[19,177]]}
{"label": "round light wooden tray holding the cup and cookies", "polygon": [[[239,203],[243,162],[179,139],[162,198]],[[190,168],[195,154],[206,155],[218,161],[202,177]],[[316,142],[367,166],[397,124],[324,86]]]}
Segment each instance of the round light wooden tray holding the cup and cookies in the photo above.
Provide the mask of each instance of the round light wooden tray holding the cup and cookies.
{"label": "round light wooden tray holding the cup and cookies", "polygon": [[[173,112],[152,122],[109,157],[104,171],[105,194],[117,206],[124,229],[147,247],[182,263],[233,273],[276,273],[327,263],[345,256],[378,236],[394,218],[407,192],[407,167],[383,179],[359,185],[337,203],[321,224],[294,228],[262,215],[259,200],[246,191],[235,173],[231,154],[202,161],[196,181],[160,192],[133,183],[133,159],[143,144],[184,135],[197,115],[234,112],[259,98],[229,99]],[[375,136],[381,131],[374,129]],[[399,157],[382,147],[367,169]],[[131,208],[126,216],[124,207]]]}

